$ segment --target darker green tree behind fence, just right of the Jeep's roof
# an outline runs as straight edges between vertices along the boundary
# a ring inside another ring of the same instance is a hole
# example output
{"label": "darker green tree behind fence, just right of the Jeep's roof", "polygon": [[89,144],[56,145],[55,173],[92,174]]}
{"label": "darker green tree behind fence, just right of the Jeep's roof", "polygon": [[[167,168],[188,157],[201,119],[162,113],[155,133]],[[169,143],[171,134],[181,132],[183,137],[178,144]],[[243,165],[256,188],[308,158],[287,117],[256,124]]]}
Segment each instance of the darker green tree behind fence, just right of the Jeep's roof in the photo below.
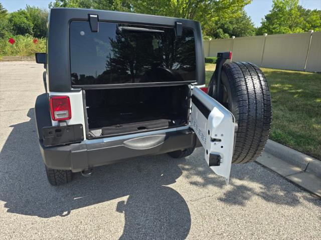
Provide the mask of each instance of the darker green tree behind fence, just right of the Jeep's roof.
{"label": "darker green tree behind fence, just right of the Jeep's roof", "polygon": [[228,20],[218,20],[214,28],[209,33],[214,38],[231,38],[247,37],[255,35],[255,27],[249,16],[244,10],[241,11],[240,16],[230,18]]}

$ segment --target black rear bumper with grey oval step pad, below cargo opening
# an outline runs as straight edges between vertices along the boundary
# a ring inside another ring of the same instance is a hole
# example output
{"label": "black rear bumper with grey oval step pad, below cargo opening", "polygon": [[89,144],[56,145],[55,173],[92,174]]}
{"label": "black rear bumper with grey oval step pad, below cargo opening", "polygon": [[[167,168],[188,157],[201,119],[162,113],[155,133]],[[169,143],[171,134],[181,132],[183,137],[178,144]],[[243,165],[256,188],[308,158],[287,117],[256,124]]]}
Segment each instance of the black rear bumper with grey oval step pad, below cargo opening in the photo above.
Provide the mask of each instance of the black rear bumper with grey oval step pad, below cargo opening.
{"label": "black rear bumper with grey oval step pad, below cargo opening", "polygon": [[39,143],[47,167],[69,169],[73,172],[116,163],[132,157],[156,155],[200,146],[196,134],[189,129],[99,143],[90,143],[90,140],[87,140],[56,147],[45,147],[42,140]]}

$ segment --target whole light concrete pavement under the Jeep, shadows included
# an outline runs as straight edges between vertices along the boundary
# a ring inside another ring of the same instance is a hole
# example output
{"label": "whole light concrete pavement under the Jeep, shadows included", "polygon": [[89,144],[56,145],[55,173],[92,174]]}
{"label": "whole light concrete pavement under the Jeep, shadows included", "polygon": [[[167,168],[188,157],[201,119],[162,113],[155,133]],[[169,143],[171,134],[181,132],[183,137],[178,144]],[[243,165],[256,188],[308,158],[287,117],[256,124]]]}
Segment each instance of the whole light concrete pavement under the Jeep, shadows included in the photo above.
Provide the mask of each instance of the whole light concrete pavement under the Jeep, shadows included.
{"label": "whole light concrete pavement under the Jeep, shadows included", "polygon": [[34,118],[43,71],[34,62],[0,62],[0,239],[321,238],[318,198],[257,163],[233,165],[225,185],[202,148],[51,186]]}

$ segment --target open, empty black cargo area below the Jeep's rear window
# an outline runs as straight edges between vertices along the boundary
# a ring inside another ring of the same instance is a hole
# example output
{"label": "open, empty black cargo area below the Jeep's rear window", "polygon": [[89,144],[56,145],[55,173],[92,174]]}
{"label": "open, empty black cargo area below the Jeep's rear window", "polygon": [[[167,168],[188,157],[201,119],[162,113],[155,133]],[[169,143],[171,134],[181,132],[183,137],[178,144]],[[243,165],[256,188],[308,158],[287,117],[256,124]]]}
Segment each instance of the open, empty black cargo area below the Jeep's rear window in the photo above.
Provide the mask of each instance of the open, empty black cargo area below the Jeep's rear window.
{"label": "open, empty black cargo area below the Jeep's rear window", "polygon": [[184,126],[188,85],[86,90],[89,137],[115,136]]}

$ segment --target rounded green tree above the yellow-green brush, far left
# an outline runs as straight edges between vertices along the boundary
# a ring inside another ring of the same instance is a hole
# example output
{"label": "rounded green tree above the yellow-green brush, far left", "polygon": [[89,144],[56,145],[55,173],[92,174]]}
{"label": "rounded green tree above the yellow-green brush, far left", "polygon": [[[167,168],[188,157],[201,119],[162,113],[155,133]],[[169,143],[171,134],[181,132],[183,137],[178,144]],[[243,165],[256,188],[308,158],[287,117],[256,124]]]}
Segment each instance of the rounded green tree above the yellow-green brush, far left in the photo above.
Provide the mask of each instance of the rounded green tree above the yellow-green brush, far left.
{"label": "rounded green tree above the yellow-green brush, far left", "polygon": [[9,23],[12,26],[12,32],[16,35],[33,34],[33,23],[26,10],[13,12],[9,16]]}

